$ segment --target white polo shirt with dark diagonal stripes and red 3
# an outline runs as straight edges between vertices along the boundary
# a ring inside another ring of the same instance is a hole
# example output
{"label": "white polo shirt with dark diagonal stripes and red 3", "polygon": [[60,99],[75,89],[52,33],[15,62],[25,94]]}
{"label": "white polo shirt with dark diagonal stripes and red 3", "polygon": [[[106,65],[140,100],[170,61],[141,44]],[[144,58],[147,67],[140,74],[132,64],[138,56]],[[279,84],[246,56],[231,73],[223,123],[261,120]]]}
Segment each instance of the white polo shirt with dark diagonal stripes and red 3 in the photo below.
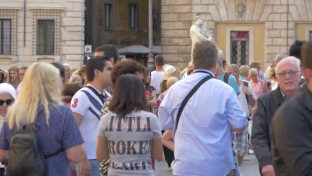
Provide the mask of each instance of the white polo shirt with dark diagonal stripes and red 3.
{"label": "white polo shirt with dark diagonal stripes and red 3", "polygon": [[70,107],[72,112],[82,116],[80,131],[85,141],[83,146],[88,159],[94,160],[96,159],[97,132],[103,103],[99,96],[88,87],[83,87],[73,96]]}

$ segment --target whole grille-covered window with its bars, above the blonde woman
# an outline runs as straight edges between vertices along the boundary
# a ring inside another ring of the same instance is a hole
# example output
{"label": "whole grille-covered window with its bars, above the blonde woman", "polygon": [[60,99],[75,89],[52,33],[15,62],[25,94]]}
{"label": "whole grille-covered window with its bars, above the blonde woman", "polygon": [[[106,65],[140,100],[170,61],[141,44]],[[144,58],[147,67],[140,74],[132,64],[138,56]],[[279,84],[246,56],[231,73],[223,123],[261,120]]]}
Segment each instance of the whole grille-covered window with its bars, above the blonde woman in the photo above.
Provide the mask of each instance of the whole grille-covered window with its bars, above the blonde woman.
{"label": "whole grille-covered window with its bars, above the blonde woman", "polygon": [[61,54],[62,10],[33,10],[33,54]]}

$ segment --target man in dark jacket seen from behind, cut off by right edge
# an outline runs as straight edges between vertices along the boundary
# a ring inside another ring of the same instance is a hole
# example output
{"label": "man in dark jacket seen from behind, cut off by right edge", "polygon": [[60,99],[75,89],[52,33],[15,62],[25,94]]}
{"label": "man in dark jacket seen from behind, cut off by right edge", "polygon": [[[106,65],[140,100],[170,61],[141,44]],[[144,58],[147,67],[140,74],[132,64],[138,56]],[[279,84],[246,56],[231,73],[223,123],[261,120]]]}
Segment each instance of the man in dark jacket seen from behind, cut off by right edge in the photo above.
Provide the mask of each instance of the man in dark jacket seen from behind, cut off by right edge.
{"label": "man in dark jacket seen from behind, cut off by right edge", "polygon": [[277,175],[312,175],[312,41],[304,44],[302,59],[307,89],[282,105],[270,128]]}

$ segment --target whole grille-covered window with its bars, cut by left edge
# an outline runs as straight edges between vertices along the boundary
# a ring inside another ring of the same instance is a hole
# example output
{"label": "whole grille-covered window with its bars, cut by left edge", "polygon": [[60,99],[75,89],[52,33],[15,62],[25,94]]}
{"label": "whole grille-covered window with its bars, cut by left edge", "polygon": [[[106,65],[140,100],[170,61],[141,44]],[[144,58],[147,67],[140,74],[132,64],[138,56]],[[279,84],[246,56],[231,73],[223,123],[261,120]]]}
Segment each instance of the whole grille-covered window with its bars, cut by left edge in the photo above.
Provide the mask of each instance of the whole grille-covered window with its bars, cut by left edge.
{"label": "whole grille-covered window with its bars, cut by left edge", "polygon": [[17,10],[0,9],[0,55],[16,55]]}

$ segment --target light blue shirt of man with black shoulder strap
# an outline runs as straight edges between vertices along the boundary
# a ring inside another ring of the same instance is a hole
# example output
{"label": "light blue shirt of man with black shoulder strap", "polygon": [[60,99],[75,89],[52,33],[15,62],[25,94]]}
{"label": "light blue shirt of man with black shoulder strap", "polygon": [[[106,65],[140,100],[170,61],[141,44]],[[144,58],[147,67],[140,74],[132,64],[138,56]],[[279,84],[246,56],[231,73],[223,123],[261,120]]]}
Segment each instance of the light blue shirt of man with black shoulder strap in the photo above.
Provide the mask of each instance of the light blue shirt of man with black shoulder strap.
{"label": "light blue shirt of man with black shoulder strap", "polygon": [[175,83],[159,108],[162,130],[173,129],[174,175],[227,175],[233,169],[230,126],[243,128],[247,118],[232,87],[218,79],[205,82],[189,99],[175,127],[183,99],[207,75],[195,71]]}

